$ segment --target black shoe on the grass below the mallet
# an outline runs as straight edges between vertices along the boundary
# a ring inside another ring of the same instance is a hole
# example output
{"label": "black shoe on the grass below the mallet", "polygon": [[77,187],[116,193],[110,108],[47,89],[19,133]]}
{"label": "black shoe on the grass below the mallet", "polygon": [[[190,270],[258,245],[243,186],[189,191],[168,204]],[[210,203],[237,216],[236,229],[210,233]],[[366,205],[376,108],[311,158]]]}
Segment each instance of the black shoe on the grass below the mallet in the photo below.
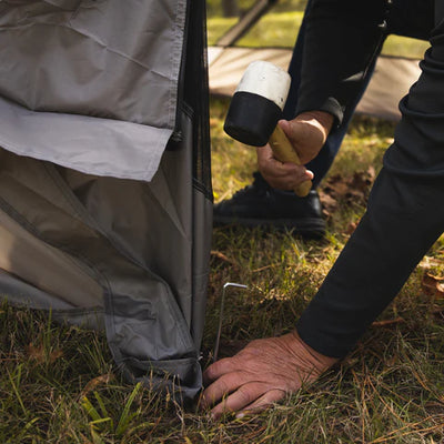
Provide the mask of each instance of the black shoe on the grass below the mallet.
{"label": "black shoe on the grass below the mallet", "polygon": [[214,205],[214,224],[289,230],[306,238],[322,238],[325,221],[316,191],[299,198],[291,191],[271,188],[260,173],[251,185],[238,191],[230,200]]}

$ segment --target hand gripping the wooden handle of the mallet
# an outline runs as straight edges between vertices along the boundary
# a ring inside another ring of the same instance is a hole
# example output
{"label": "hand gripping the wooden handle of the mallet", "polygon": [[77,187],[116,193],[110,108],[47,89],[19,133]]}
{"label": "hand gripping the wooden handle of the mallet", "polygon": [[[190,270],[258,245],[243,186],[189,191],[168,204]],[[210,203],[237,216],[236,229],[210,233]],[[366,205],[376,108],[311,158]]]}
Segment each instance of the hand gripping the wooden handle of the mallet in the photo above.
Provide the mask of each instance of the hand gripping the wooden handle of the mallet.
{"label": "hand gripping the wooden handle of the mallet", "polygon": [[[291,121],[281,120],[285,132],[302,164],[313,160],[324,145],[333,124],[333,117],[323,111],[310,111]],[[312,180],[313,173],[303,165],[282,163],[273,157],[270,145],[258,148],[258,168],[273,188],[294,190],[300,183]]]}

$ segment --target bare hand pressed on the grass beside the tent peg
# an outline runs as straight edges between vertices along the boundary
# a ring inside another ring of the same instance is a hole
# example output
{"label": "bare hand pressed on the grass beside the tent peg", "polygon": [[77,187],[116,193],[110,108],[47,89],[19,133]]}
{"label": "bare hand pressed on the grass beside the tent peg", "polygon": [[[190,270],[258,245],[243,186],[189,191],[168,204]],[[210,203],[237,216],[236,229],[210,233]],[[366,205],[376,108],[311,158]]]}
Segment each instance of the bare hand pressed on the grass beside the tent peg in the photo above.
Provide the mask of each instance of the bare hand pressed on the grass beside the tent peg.
{"label": "bare hand pressed on the grass beside the tent peg", "polygon": [[204,372],[202,406],[215,404],[211,414],[255,412],[269,407],[302,383],[315,381],[337,360],[306,345],[294,331],[280,337],[251,342],[233,357]]}

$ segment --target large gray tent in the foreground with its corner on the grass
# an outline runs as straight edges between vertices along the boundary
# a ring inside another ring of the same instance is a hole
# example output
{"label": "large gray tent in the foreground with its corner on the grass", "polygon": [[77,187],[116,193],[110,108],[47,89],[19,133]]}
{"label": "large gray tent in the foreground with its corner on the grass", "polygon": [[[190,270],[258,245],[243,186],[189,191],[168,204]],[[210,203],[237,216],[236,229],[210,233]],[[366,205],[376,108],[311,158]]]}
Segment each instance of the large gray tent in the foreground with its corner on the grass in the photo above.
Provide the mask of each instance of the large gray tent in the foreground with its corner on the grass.
{"label": "large gray tent in the foreground with its corner on the grass", "polygon": [[[172,13],[172,11],[174,13]],[[0,293],[201,389],[212,225],[203,0],[0,3]]]}

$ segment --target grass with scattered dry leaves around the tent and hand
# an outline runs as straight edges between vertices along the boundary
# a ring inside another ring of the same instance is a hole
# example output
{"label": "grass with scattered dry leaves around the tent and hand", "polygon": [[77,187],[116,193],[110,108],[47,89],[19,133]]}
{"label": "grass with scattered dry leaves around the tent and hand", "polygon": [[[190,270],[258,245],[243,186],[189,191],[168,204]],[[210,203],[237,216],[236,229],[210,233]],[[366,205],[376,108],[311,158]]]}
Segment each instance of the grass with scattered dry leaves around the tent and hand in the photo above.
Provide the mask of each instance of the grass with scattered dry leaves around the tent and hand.
{"label": "grass with scattered dry leaves around the tent and hand", "polygon": [[[222,131],[226,101],[213,100],[213,183],[220,201],[250,182],[254,153]],[[393,124],[355,118],[332,178],[376,171]],[[340,178],[340,179],[337,179]],[[221,356],[254,337],[278,335],[315,294],[364,211],[337,199],[323,241],[241,228],[214,229],[206,327],[211,351],[222,286],[226,292]],[[406,240],[408,241],[408,240]],[[0,306],[1,443],[442,443],[444,302],[424,286],[443,275],[444,241],[427,254],[356,349],[311,387],[254,417],[213,423],[149,387],[122,381],[105,339],[60,326],[41,313]]]}

